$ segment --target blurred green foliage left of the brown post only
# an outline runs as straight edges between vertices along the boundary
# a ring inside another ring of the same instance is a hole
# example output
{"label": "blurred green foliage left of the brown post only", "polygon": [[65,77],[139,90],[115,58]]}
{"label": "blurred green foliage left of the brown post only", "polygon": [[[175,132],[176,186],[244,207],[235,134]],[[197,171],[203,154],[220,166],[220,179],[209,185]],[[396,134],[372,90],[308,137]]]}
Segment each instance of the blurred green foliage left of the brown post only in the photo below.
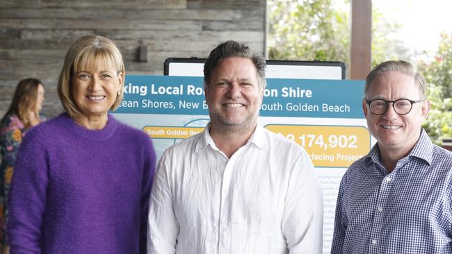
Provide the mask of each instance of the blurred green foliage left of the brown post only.
{"label": "blurred green foliage left of the brown post only", "polygon": [[268,0],[268,58],[348,63],[348,11],[332,0]]}

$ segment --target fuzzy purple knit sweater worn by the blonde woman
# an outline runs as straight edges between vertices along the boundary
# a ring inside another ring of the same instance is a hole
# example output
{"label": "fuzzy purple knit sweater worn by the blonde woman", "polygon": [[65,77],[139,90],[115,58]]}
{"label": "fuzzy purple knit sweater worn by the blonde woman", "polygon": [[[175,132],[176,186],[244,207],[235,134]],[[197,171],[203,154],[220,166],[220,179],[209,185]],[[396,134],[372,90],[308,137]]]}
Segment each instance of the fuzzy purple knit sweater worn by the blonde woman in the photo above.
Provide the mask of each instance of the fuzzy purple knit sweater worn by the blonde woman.
{"label": "fuzzy purple knit sweater worn by the blonde woman", "polygon": [[102,130],[67,114],[31,128],[10,189],[11,253],[145,253],[154,171],[150,138],[111,115]]}

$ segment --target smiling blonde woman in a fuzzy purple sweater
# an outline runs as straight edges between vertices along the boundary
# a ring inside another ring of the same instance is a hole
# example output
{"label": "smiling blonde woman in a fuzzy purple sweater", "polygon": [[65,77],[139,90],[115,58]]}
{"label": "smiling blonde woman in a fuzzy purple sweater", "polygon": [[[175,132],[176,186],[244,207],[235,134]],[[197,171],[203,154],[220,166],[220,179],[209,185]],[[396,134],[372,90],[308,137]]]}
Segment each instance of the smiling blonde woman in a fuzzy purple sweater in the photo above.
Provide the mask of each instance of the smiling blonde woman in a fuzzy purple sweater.
{"label": "smiling blonde woman in a fuzzy purple sweater", "polygon": [[29,130],[10,189],[11,253],[145,253],[155,169],[150,138],[108,115],[124,64],[106,37],[81,37],[58,80],[65,113]]}

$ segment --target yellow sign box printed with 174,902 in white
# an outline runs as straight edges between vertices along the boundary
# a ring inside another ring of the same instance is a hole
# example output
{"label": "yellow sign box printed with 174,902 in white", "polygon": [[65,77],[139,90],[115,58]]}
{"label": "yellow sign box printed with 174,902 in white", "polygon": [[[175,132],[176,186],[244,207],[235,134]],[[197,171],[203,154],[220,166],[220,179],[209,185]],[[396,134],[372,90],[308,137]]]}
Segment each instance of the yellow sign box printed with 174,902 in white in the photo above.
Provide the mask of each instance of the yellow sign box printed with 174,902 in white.
{"label": "yellow sign box printed with 174,902 in white", "polygon": [[307,151],[315,167],[349,167],[371,149],[371,134],[362,126],[266,126]]}

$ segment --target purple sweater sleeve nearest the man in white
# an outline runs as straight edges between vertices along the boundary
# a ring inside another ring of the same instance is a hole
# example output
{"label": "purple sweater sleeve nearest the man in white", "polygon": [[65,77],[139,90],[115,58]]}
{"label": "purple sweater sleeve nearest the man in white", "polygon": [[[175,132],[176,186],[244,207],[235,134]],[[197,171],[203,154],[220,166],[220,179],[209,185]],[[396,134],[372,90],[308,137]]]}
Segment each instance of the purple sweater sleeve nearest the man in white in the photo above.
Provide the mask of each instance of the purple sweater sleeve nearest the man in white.
{"label": "purple sweater sleeve nearest the man in white", "polygon": [[140,210],[140,253],[146,253],[147,218],[149,213],[149,202],[154,180],[156,155],[151,139],[145,137],[145,149],[143,149],[143,182],[141,187],[141,210]]}

